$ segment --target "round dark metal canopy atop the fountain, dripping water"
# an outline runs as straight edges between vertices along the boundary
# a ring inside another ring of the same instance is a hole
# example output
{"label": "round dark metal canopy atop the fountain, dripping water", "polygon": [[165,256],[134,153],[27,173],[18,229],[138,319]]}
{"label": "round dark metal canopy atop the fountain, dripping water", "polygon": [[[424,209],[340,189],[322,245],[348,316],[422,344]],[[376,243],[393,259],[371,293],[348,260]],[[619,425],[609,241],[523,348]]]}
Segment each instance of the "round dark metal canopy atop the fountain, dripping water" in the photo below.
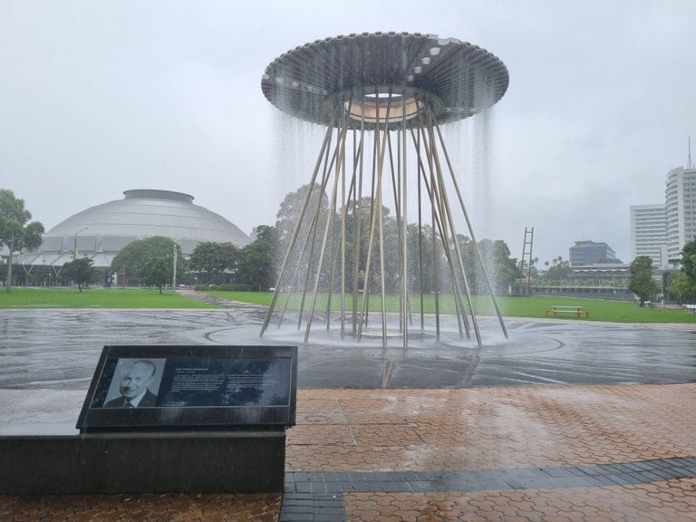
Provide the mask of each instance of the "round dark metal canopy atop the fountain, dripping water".
{"label": "round dark metal canopy atop the fountain, dripping water", "polygon": [[507,91],[507,68],[471,43],[434,34],[362,33],[305,43],[266,67],[266,99],[296,118],[333,125],[409,121],[430,107],[440,123],[488,109]]}

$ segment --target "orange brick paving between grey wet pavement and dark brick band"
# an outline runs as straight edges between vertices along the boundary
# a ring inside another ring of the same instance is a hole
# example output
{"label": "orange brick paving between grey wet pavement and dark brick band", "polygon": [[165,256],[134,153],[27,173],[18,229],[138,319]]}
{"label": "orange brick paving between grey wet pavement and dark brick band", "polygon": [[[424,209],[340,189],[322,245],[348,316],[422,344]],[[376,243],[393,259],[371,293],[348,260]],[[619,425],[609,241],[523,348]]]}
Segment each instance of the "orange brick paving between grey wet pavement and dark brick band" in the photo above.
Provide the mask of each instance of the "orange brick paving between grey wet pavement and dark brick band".
{"label": "orange brick paving between grey wet pavement and dark brick band", "polygon": [[696,384],[301,390],[286,468],[583,466],[696,456]]}

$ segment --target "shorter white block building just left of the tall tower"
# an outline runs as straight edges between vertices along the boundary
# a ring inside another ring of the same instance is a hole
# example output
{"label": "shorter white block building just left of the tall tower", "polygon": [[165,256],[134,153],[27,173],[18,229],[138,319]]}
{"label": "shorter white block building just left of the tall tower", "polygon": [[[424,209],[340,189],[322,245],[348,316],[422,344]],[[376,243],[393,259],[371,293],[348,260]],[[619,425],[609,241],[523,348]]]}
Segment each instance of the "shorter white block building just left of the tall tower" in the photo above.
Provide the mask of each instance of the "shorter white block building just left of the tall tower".
{"label": "shorter white block building just left of the tall tower", "polygon": [[655,268],[667,266],[667,214],[664,204],[631,207],[631,259],[648,256]]}

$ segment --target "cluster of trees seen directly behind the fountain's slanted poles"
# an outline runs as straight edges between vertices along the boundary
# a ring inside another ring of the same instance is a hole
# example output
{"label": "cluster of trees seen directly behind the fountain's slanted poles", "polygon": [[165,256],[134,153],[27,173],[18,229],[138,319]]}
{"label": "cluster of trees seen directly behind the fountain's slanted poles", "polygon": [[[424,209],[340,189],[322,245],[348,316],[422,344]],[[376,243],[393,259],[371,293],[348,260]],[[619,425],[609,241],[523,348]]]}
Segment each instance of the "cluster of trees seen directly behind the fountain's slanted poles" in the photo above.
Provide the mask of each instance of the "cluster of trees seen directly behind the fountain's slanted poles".
{"label": "cluster of trees seen directly behind the fountain's slanted poles", "polygon": [[[303,208],[305,226],[295,230]],[[379,216],[377,221],[381,218],[379,232],[371,232],[370,224],[375,215]],[[510,256],[504,241],[482,239],[475,245],[469,237],[461,234],[442,237],[437,227],[424,221],[406,224],[408,274],[401,274],[404,239],[401,237],[403,224],[400,217],[392,216],[388,207],[382,205],[379,208],[369,196],[349,201],[346,208],[337,208],[332,214],[322,187],[304,185],[285,196],[273,227],[276,267],[285,257],[290,266],[282,284],[299,290],[312,284],[308,279],[314,280],[318,274],[320,289],[338,291],[341,285],[362,288],[369,275],[369,286],[380,285],[383,280],[387,293],[400,292],[404,277],[411,293],[451,292],[454,282],[449,276],[448,265],[459,263],[459,259],[453,258],[458,248],[472,293],[488,293],[484,271],[490,276],[497,294],[505,294],[516,285],[521,273],[517,259]],[[382,237],[383,254],[378,252],[379,243],[375,238],[378,234]],[[295,246],[290,248],[293,237]],[[320,259],[321,267],[318,266]],[[344,273],[343,264],[347,266]]]}

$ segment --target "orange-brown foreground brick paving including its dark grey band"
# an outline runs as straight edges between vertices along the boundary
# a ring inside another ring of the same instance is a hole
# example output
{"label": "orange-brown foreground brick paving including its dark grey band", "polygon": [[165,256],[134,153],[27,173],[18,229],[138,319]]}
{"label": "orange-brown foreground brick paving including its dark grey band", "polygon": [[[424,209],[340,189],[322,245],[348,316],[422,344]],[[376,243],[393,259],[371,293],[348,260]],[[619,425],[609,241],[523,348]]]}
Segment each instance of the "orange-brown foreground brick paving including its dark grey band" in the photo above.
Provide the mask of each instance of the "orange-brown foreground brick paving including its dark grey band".
{"label": "orange-brown foreground brick paving including its dark grey band", "polygon": [[300,390],[280,514],[280,495],[4,497],[0,520],[696,520],[694,404],[696,384]]}

